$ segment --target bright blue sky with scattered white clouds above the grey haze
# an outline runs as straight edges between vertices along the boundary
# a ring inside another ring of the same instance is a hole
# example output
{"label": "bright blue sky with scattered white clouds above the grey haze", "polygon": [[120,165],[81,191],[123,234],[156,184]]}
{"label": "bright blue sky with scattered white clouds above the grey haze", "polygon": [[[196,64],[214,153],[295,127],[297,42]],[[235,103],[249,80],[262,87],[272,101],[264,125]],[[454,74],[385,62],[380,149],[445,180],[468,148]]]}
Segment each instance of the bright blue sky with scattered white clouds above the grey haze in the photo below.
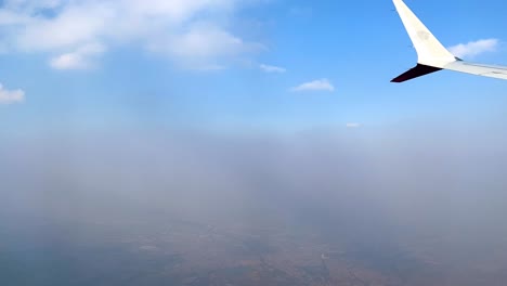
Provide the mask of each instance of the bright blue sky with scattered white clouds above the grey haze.
{"label": "bright blue sky with scattered white clouds above the grey haze", "polygon": [[[416,62],[390,0],[0,3],[4,134],[507,119],[502,80],[442,72],[389,82]],[[507,64],[505,1],[406,3],[461,57]]]}

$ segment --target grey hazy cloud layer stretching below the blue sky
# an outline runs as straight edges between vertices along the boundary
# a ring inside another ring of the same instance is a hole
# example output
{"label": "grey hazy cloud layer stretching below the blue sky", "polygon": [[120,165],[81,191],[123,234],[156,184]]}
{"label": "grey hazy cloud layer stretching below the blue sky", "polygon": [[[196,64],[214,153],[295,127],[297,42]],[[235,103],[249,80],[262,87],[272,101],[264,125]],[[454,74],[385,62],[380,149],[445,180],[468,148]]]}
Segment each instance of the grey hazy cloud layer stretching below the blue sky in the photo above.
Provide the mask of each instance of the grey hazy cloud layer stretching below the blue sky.
{"label": "grey hazy cloud layer stretching below the blue sky", "polygon": [[[2,277],[120,285],[110,277],[146,273],[132,284],[154,285],[156,273],[164,282],[185,273],[179,263],[170,272],[172,253],[192,262],[192,276],[207,277],[209,269],[222,273],[223,261],[259,260],[264,245],[275,251],[266,259],[278,261],[277,246],[288,242],[308,252],[301,265],[312,271],[332,253],[324,269],[333,273],[365,266],[394,278],[375,276],[387,282],[376,285],[505,285],[507,133],[482,128],[0,133],[0,250],[14,265]],[[140,248],[158,255],[139,256]],[[140,266],[118,265],[125,253]],[[64,266],[48,274],[48,262]]]}

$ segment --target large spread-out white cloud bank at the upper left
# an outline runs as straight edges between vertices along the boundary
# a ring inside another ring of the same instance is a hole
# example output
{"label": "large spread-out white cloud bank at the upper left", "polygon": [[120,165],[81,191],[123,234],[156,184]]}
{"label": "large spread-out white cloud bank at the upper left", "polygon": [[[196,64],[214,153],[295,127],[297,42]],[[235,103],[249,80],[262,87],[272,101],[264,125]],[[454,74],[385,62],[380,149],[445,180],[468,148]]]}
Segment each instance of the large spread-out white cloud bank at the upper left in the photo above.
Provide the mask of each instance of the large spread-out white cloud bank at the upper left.
{"label": "large spread-out white cloud bank at the upper left", "polygon": [[[251,1],[250,1],[251,2]],[[0,43],[11,52],[61,54],[54,68],[88,68],[107,47],[136,44],[185,67],[223,66],[263,50],[231,30],[239,0],[5,0]],[[100,42],[100,52],[87,52]]]}

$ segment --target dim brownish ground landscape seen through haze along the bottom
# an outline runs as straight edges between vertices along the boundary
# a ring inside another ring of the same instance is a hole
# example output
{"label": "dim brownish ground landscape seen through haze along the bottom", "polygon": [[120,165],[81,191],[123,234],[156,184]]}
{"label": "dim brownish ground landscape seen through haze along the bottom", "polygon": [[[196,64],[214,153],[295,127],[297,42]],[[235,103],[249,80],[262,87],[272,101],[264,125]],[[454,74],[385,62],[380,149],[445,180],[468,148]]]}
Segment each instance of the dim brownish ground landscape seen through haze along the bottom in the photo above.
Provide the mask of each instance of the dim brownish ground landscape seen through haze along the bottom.
{"label": "dim brownish ground landscape seen through haze along the bottom", "polygon": [[[34,231],[38,237],[23,233]],[[2,285],[429,286],[502,285],[506,278],[494,266],[464,273],[408,246],[329,242],[310,227],[253,230],[168,219],[157,226],[11,226],[1,234]]]}

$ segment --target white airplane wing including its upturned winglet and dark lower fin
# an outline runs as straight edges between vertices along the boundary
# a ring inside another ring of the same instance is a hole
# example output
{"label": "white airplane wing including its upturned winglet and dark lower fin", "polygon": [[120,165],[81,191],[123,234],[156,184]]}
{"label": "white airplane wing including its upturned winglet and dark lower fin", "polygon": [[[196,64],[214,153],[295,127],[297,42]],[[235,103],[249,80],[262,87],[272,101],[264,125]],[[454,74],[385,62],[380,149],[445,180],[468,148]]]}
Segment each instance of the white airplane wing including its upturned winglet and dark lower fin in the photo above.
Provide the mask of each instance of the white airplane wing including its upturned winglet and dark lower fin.
{"label": "white airplane wing including its upturned winglet and dark lower fin", "polygon": [[507,67],[468,63],[457,58],[440,43],[403,0],[393,0],[393,2],[414,43],[418,60],[417,66],[394,78],[391,82],[403,82],[442,69],[507,80]]}

